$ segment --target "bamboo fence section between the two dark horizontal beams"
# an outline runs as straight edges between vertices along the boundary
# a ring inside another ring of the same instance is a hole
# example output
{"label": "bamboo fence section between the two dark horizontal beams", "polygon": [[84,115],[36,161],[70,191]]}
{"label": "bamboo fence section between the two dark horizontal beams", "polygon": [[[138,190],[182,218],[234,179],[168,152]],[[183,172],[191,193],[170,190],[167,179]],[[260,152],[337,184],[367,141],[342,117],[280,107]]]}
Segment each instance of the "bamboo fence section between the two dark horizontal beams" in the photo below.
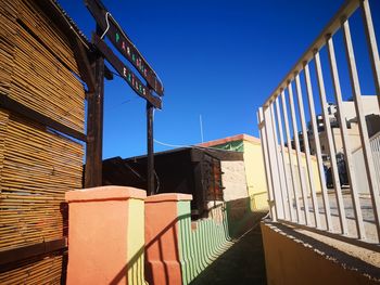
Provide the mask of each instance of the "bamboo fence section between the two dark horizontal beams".
{"label": "bamboo fence section between the two dark horizontal beams", "polygon": [[61,238],[64,193],[81,187],[83,146],[13,115],[0,125],[0,249]]}

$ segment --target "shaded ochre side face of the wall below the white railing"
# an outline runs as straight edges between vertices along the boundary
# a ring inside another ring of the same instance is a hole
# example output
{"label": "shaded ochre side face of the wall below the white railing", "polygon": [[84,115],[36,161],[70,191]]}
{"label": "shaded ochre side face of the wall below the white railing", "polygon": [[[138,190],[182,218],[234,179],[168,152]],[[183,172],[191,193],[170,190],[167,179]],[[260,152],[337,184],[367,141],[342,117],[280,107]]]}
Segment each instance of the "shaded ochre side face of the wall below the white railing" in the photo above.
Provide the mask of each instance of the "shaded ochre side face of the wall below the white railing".
{"label": "shaded ochre side face of the wall below the white railing", "polygon": [[[262,222],[267,282],[271,284],[372,284],[357,271]],[[375,284],[375,283],[373,283]]]}

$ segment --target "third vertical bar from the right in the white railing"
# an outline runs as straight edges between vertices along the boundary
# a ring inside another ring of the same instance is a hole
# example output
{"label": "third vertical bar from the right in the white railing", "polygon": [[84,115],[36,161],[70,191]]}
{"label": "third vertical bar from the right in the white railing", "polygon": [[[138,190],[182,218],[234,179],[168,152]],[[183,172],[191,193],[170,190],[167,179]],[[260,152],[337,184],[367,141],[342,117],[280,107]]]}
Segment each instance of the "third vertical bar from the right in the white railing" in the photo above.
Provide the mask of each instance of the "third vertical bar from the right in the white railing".
{"label": "third vertical bar from the right in the white railing", "polygon": [[[339,128],[341,131],[341,138],[342,138],[342,144],[343,144],[343,152],[344,152],[344,158],[346,161],[346,169],[349,174],[349,181],[351,186],[351,192],[355,193],[357,191],[357,184],[354,173],[354,164],[352,159],[352,150],[349,141],[349,133],[347,133],[347,126],[345,120],[345,114],[343,108],[343,99],[342,99],[342,90],[341,85],[339,80],[339,73],[338,73],[338,65],[337,65],[337,59],[335,59],[335,51],[333,47],[333,40],[331,35],[327,35],[327,50],[329,54],[329,63],[330,63],[330,69],[331,69],[331,76],[332,76],[332,86],[334,90],[334,96],[337,101],[337,113],[338,113],[338,120],[339,120]],[[339,193],[339,199],[342,203],[342,207],[344,207],[343,203],[343,196],[342,193]],[[357,206],[357,205],[356,205]],[[357,207],[356,207],[357,208]],[[356,212],[355,212],[356,216]],[[356,229],[359,234],[359,228],[360,228],[360,219],[362,217],[355,217],[355,223]],[[349,234],[346,232],[345,234]]]}

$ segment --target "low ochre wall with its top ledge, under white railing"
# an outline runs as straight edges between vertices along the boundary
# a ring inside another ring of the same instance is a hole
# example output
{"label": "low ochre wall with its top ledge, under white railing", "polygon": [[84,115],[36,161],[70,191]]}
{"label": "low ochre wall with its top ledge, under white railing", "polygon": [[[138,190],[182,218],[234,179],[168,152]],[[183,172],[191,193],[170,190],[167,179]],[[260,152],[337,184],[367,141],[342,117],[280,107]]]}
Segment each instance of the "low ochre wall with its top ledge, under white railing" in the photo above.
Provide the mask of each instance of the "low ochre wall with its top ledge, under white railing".
{"label": "low ochre wall with its top ledge, under white railing", "polygon": [[[261,224],[267,283],[379,284],[379,269],[278,223]],[[307,242],[305,242],[307,239]]]}

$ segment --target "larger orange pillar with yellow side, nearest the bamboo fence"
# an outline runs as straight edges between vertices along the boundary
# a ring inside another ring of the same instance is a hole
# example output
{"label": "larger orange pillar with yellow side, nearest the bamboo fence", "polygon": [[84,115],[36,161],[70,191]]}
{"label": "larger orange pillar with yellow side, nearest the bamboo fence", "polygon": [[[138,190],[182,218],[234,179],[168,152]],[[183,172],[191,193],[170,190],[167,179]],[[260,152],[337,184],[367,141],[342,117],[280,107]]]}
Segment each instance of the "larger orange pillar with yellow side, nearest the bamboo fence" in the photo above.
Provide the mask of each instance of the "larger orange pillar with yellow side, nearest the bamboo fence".
{"label": "larger orange pillar with yellow side, nearest the bamboo fence", "polygon": [[67,284],[144,284],[144,198],[134,187],[69,191]]}

